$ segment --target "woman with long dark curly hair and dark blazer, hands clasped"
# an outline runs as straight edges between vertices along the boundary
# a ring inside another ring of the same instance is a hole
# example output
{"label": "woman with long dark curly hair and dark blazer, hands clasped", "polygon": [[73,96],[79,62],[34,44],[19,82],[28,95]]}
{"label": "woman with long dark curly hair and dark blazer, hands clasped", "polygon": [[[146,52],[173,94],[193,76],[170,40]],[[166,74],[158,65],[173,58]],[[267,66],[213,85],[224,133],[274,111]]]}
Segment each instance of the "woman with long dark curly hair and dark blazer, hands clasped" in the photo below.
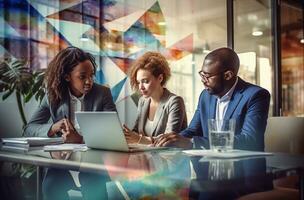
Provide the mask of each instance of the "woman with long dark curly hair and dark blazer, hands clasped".
{"label": "woman with long dark curly hair and dark blazer, hands clasped", "polygon": [[116,110],[110,89],[93,82],[95,72],[90,54],[75,47],[59,52],[46,72],[47,95],[25,126],[24,135],[62,135],[65,142],[83,142],[74,128],[78,125],[75,111]]}

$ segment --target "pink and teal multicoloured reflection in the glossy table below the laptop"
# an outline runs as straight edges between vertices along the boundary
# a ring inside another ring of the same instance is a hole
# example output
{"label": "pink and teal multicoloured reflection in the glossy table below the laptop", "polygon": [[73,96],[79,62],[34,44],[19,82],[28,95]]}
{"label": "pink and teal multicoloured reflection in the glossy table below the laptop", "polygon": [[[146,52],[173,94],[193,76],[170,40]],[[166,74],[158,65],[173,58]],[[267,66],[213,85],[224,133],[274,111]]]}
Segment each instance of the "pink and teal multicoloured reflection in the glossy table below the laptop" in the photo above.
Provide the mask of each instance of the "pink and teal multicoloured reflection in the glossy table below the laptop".
{"label": "pink and teal multicoloured reflection in the glossy table below the laptop", "polygon": [[[188,198],[190,159],[181,151],[128,154],[91,149],[87,152],[52,152],[51,156],[79,161],[81,174],[86,174],[85,171],[94,173],[97,169],[95,177],[106,181],[110,199],[125,199],[126,196],[130,199]],[[107,174],[100,174],[100,170]]]}

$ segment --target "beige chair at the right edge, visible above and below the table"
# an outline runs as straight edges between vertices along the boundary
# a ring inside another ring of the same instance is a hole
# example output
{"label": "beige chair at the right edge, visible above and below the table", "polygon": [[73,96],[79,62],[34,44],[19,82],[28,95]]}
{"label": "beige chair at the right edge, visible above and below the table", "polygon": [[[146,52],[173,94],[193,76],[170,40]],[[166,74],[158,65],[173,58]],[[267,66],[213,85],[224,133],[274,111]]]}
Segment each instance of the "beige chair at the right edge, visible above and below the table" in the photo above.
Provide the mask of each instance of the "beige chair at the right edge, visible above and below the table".
{"label": "beige chair at the right edge, visible above and below the table", "polygon": [[[265,151],[304,154],[304,117],[269,117]],[[273,181],[273,190],[242,196],[238,200],[299,199],[299,177],[291,175]]]}

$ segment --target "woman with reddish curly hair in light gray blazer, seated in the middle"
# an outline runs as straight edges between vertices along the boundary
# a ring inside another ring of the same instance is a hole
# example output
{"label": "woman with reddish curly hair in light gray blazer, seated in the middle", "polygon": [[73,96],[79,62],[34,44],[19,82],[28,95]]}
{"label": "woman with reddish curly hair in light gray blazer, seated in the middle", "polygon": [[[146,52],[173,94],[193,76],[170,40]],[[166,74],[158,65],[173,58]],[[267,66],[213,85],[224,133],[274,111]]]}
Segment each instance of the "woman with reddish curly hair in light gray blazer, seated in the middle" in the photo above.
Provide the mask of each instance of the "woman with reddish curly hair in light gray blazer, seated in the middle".
{"label": "woman with reddish curly hair in light gray blazer, seated in the middle", "polygon": [[182,97],[164,87],[169,77],[169,64],[160,53],[147,52],[133,64],[131,86],[142,96],[133,130],[124,125],[128,143],[151,144],[160,134],[179,133],[187,127]]}

